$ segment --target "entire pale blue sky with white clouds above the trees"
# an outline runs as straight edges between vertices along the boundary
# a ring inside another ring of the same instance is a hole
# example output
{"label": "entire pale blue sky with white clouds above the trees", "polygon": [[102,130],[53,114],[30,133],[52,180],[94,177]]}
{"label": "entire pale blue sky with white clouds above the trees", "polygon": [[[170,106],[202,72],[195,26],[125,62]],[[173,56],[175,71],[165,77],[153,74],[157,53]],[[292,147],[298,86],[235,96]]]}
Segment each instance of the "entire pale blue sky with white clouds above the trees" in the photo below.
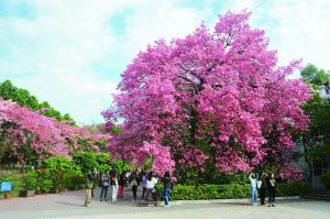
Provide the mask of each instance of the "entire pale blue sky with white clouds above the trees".
{"label": "entire pale blue sky with white clouds above the trees", "polygon": [[330,69],[330,0],[0,0],[0,81],[78,124],[103,122],[121,73],[147,44],[244,9],[279,65],[302,58]]}

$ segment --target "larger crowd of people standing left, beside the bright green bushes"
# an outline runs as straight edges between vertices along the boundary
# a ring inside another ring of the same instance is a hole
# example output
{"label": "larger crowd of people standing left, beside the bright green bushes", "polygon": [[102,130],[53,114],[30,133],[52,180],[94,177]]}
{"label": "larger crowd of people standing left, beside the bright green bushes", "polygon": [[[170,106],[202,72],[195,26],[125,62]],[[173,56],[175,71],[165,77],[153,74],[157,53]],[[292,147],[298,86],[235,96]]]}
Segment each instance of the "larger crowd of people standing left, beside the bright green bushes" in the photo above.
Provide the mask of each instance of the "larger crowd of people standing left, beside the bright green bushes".
{"label": "larger crowd of people standing left, beside the bright green bushes", "polygon": [[112,201],[118,201],[118,198],[123,198],[124,187],[129,187],[132,190],[132,201],[136,201],[138,187],[142,185],[142,197],[141,200],[147,201],[148,206],[154,206],[157,201],[156,184],[163,183],[164,186],[164,201],[165,207],[168,207],[170,188],[173,183],[170,180],[170,174],[168,172],[160,178],[153,172],[123,172],[118,174],[114,169],[106,171],[105,173],[99,174],[95,168],[87,174],[86,178],[86,200],[84,206],[90,204],[91,197],[94,197],[94,189],[96,188],[97,182],[101,188],[100,201],[107,201],[109,186],[112,190]]}

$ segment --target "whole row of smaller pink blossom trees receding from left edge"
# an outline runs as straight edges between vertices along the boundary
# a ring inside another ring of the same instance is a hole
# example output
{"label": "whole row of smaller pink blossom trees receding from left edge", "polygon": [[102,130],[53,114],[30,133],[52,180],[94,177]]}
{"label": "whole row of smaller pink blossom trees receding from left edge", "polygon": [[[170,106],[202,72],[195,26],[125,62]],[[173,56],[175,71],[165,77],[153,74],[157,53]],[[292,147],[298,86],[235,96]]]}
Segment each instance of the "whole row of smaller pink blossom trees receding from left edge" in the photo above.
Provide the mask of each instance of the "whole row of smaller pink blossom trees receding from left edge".
{"label": "whole row of smaller pink blossom trees receding from left edge", "polygon": [[95,130],[70,125],[69,121],[58,122],[0,98],[0,146],[8,149],[7,156],[13,156],[22,164],[25,164],[31,154],[33,157],[69,156],[72,152],[81,150],[81,141],[98,151],[97,141],[109,140],[109,136]]}

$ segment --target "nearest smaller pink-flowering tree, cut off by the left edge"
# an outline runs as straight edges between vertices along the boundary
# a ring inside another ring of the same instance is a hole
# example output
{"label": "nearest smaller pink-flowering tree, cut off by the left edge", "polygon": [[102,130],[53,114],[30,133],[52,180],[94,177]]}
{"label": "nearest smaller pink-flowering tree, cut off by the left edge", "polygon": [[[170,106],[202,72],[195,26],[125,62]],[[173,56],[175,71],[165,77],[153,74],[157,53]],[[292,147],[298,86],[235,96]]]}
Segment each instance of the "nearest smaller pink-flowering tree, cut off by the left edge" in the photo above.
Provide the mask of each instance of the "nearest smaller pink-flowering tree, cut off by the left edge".
{"label": "nearest smaller pink-flowering tree, cut off by the left edge", "polygon": [[11,155],[25,163],[29,153],[68,155],[57,121],[16,103],[0,99],[1,141],[11,144]]}

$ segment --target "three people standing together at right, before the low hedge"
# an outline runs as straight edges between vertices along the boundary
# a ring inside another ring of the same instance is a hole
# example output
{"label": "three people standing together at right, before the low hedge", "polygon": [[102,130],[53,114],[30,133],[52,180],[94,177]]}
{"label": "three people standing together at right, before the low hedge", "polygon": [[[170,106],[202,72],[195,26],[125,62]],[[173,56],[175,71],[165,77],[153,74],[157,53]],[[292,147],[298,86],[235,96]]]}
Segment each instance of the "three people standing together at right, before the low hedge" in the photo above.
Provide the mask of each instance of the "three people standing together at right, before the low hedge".
{"label": "three people standing together at right, before the low hedge", "polygon": [[257,205],[257,190],[260,190],[261,205],[265,205],[266,190],[268,191],[268,207],[275,207],[276,179],[274,174],[262,173],[261,177],[257,174],[250,174],[251,183],[251,205]]}

